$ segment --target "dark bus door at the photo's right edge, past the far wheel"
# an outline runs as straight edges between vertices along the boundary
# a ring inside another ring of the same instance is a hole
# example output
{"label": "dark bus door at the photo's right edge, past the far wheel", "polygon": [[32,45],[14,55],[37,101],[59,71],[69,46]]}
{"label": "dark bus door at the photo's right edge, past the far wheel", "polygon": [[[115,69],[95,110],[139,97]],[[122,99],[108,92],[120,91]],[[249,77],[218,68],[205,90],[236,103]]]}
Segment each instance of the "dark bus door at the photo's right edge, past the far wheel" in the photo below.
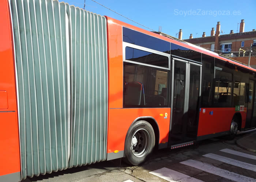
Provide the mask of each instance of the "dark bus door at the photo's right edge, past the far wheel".
{"label": "dark bus door at the photo's right edge, past the far wheel", "polygon": [[248,107],[245,128],[253,128],[256,124],[256,93],[255,80],[249,80]]}

